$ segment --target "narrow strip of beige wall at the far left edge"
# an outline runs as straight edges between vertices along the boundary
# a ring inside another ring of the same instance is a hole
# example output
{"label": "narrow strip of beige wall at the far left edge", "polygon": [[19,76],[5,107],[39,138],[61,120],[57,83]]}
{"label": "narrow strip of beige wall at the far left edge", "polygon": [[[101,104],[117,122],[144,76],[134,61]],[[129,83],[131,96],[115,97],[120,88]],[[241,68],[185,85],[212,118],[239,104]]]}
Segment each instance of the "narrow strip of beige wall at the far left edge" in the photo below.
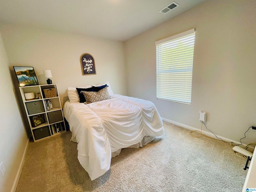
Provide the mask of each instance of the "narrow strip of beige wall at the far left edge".
{"label": "narrow strip of beige wall at the far left edge", "polygon": [[28,141],[17,106],[8,58],[0,33],[0,162],[6,167],[0,172],[0,191],[10,192]]}

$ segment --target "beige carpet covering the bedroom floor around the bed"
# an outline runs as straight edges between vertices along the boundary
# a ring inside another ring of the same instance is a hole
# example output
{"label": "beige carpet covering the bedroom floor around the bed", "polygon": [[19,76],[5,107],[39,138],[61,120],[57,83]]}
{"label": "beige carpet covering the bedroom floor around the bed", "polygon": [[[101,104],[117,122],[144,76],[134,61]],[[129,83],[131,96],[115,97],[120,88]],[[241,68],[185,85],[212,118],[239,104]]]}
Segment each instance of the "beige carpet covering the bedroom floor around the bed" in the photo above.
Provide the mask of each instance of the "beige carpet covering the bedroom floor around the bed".
{"label": "beige carpet covering the bedroom floor around the bed", "polygon": [[245,159],[230,144],[195,138],[164,122],[165,134],[143,148],[122,149],[110,170],[91,181],[70,131],[30,142],[16,192],[240,192]]}

